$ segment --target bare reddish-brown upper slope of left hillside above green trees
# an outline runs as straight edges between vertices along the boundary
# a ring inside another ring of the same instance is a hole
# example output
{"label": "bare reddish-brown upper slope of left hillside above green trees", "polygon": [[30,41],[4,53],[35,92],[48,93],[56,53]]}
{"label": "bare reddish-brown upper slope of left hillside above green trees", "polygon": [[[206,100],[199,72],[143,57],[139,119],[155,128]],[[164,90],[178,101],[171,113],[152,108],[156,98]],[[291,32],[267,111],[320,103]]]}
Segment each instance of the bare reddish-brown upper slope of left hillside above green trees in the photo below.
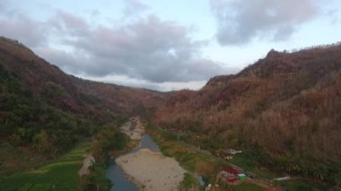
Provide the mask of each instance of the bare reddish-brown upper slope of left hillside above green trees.
{"label": "bare reddish-brown upper slope of left hillside above green trees", "polygon": [[[133,112],[139,106],[153,108],[164,93],[78,79],[62,72],[12,39],[0,39],[0,60],[23,86],[49,103],[68,111],[81,112],[93,107],[91,97],[118,112]],[[90,101],[89,103],[87,101]],[[126,104],[127,103],[127,104]]]}

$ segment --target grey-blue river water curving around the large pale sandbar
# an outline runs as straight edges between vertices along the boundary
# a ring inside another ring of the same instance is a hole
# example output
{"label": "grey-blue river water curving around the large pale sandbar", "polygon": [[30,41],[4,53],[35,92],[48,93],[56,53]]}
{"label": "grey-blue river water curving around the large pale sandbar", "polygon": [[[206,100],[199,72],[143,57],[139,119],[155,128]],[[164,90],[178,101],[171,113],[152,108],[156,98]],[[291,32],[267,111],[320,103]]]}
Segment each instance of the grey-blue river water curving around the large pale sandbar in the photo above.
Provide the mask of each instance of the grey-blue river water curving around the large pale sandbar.
{"label": "grey-blue river water curving around the large pale sandbar", "polygon": [[[153,139],[149,135],[144,135],[141,139],[141,144],[133,149],[131,152],[138,152],[140,149],[149,149],[152,152],[160,152],[159,146],[153,142]],[[114,184],[110,191],[137,191],[138,187],[131,182],[123,173],[122,169],[112,159],[107,169],[106,177]]]}

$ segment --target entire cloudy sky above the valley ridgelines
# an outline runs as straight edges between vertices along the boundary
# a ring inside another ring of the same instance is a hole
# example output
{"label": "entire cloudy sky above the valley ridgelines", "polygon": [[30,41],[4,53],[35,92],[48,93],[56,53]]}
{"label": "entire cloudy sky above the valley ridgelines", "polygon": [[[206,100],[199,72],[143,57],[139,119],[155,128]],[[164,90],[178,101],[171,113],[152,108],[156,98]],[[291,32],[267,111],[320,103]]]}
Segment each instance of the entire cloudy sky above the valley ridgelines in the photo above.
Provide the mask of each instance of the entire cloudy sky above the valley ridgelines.
{"label": "entire cloudy sky above the valley ridgelines", "polygon": [[67,74],[197,90],[271,48],[341,41],[340,8],[340,0],[0,0],[0,36]]}

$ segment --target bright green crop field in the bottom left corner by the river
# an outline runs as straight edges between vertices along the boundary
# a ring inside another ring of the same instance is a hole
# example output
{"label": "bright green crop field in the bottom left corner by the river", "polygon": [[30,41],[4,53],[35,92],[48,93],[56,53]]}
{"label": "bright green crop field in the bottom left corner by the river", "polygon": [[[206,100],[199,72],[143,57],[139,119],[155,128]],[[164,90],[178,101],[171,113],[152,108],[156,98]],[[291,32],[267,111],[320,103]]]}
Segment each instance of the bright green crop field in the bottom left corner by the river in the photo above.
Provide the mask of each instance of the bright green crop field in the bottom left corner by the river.
{"label": "bright green crop field in the bottom left corner by the river", "polygon": [[[39,169],[14,174],[0,180],[1,190],[75,190],[78,170],[83,165],[83,154],[90,143],[80,143],[58,161]],[[25,161],[22,161],[25,162]]]}

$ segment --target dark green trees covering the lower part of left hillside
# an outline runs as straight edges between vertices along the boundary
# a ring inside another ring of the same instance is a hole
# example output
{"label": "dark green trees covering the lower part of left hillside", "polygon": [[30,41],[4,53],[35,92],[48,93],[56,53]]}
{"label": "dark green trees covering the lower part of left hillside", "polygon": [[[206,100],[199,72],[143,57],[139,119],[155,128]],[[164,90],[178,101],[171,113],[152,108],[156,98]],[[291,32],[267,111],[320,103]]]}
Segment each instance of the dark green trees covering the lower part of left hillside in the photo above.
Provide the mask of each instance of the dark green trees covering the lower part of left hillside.
{"label": "dark green trees covering the lower part of left hillside", "polygon": [[104,123],[108,121],[95,115],[66,113],[48,105],[0,65],[0,136],[14,146],[56,158]]}

